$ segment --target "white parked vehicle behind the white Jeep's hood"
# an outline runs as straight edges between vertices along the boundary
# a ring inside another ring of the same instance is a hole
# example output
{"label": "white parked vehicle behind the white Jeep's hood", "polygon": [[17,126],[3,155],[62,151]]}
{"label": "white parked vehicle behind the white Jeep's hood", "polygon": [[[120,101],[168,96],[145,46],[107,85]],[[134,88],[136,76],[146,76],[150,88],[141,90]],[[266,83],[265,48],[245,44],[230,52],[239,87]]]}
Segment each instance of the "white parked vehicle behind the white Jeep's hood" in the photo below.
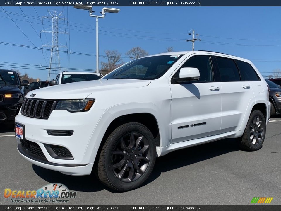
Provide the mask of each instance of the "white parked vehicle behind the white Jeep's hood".
{"label": "white parked vehicle behind the white Jeep's hood", "polygon": [[48,86],[57,84],[68,84],[79,81],[94,81],[103,77],[100,73],[89,72],[61,72],[56,76],[55,80],[49,82]]}

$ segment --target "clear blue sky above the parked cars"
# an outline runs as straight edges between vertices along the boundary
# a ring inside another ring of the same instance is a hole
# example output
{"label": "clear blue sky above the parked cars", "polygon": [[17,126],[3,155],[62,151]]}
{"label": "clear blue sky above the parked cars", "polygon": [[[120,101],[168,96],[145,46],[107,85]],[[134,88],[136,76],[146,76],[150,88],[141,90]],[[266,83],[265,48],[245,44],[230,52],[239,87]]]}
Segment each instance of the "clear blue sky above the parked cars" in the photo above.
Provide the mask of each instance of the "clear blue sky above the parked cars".
{"label": "clear blue sky above the parked cars", "polygon": [[[39,65],[49,65],[49,51],[46,51],[47,55],[43,52],[46,62],[40,50],[3,45],[3,43],[42,47],[42,43],[50,42],[52,39],[50,33],[45,33],[47,40],[44,33],[41,33],[41,39],[38,36],[43,27],[46,29],[51,25],[49,20],[43,20],[42,25],[41,19],[38,18],[47,15],[48,9],[65,11],[65,17],[69,18],[69,26],[66,21],[66,30],[70,33],[70,40],[68,35],[67,37],[64,34],[59,35],[61,44],[67,45],[68,50],[72,52],[96,54],[95,18],[90,17],[88,11],[73,7],[35,7],[35,9],[21,7],[22,11],[19,7],[3,8],[20,29],[0,8],[1,69],[18,69],[34,78],[47,79],[48,70]],[[125,53],[136,46],[142,47],[149,54],[164,52],[169,46],[173,46],[174,51],[191,50],[191,42],[185,40],[191,38],[188,33],[191,29],[195,29],[195,33],[198,33],[199,38],[202,39],[195,42],[195,50],[211,50],[250,59],[262,75],[272,74],[274,69],[281,68],[279,23],[281,7],[116,8],[121,11],[117,14],[107,13],[104,19],[99,19],[100,55],[105,55],[105,50],[118,50],[123,57],[126,57]],[[101,9],[102,7],[93,8],[95,14]],[[64,30],[64,21],[60,22],[59,27]],[[79,69],[96,67],[94,56],[69,55],[68,63],[67,54],[59,53],[61,67]],[[105,60],[100,58],[100,61]],[[127,62],[129,59],[123,58],[123,61]],[[37,66],[29,66],[33,69],[27,69],[25,64]],[[52,74],[51,78],[55,78],[55,74]]]}

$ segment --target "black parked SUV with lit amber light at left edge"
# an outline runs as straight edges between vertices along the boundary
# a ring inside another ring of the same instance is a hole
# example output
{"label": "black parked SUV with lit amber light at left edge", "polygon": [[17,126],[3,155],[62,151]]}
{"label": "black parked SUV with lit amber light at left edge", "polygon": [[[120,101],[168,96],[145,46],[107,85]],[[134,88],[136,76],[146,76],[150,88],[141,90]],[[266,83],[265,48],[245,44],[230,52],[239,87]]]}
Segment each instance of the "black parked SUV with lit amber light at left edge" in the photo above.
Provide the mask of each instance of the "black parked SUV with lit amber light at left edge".
{"label": "black parked SUV with lit amber light at left edge", "polygon": [[25,85],[28,81],[20,81],[16,71],[0,69],[0,123],[14,121],[23,103]]}

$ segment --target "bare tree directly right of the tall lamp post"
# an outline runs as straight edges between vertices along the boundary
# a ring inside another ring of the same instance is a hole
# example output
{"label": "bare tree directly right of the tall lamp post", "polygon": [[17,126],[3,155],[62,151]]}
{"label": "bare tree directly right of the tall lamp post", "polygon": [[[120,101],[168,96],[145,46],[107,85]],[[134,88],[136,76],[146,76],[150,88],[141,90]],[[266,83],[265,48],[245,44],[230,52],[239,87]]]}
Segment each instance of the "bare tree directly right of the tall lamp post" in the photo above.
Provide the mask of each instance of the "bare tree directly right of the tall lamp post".
{"label": "bare tree directly right of the tall lamp post", "polygon": [[123,60],[121,59],[121,53],[117,50],[106,50],[105,51],[107,62],[101,62],[101,73],[107,74],[112,70],[123,64]]}

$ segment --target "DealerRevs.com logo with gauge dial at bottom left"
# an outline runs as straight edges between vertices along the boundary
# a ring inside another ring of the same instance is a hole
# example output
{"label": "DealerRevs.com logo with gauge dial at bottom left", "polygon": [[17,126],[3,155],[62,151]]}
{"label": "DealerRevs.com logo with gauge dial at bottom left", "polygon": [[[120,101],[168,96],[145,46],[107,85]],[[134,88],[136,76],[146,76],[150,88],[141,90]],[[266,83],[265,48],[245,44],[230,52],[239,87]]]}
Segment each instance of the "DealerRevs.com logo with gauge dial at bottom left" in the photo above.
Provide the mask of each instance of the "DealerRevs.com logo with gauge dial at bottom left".
{"label": "DealerRevs.com logo with gauge dial at bottom left", "polygon": [[69,191],[68,188],[60,183],[53,183],[43,186],[38,190],[4,190],[4,197],[11,198],[13,203],[66,203],[69,198],[75,198],[76,192]]}

